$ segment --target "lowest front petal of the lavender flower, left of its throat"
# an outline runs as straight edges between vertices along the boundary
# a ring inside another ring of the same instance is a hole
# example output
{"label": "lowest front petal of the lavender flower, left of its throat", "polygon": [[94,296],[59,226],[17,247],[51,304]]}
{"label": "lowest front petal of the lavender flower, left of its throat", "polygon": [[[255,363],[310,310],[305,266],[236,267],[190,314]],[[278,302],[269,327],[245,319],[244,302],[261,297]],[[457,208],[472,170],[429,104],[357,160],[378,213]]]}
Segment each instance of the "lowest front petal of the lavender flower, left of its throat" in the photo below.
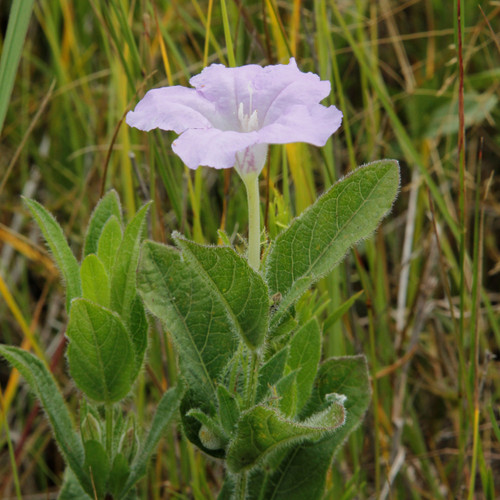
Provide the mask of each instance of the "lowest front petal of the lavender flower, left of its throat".
{"label": "lowest front petal of the lavender flower, left of its throat", "polygon": [[236,153],[258,142],[257,132],[189,129],[172,143],[172,149],[189,168],[229,168],[236,162]]}

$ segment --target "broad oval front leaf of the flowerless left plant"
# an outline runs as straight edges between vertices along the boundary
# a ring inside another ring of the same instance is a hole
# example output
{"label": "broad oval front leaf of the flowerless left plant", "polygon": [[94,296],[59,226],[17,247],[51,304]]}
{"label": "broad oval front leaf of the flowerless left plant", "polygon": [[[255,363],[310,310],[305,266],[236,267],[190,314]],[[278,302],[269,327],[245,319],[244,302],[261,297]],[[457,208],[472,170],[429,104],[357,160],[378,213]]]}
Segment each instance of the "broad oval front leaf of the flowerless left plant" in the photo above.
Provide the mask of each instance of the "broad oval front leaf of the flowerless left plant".
{"label": "broad oval front leaf of the flowerless left plant", "polygon": [[86,299],[71,307],[68,362],[76,385],[99,402],[124,398],[135,373],[134,352],[120,317]]}

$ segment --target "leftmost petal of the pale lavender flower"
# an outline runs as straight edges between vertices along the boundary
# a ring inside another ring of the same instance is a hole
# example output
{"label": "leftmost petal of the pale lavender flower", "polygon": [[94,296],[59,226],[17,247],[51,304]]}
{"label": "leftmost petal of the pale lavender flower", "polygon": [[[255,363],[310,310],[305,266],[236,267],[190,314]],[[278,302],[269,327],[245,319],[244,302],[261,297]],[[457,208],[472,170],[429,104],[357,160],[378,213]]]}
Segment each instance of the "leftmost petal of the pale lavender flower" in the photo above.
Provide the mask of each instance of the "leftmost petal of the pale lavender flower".
{"label": "leftmost petal of the pale lavender flower", "polygon": [[127,113],[126,122],[146,132],[161,128],[178,134],[188,128],[212,127],[213,103],[203,98],[195,89],[162,87],[146,93],[134,111]]}

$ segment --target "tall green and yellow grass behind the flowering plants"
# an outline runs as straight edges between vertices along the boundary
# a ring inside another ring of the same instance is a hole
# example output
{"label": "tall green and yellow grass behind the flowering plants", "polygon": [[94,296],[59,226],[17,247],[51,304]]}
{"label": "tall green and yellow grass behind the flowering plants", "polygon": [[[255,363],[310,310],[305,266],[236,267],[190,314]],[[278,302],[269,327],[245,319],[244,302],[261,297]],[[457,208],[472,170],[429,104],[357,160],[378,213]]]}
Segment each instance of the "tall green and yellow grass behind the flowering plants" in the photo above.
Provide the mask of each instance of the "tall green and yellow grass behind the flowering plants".
{"label": "tall green and yellow grass behind the flowering plants", "polygon": [[[402,169],[391,216],[298,306],[320,315],[325,358],[364,353],[371,368],[370,411],[336,457],[325,498],[498,498],[499,19],[497,1],[2,1],[0,341],[44,357],[77,408],[63,288],[20,195],[57,215],[77,255],[110,188],[126,215],[154,200],[157,241],[177,229],[217,243],[224,229],[241,246],[238,176],[188,171],[173,135],[123,118],[147,89],[188,85],[207,64],[294,56],[332,82],[327,101],[344,121],[322,149],[271,147],[267,234],[357,165],[387,157]],[[153,324],[127,402],[139,427],[177,376],[168,332]],[[6,363],[0,381],[0,497],[55,498],[63,463],[48,423]],[[141,497],[216,498],[223,472],[173,426]]]}

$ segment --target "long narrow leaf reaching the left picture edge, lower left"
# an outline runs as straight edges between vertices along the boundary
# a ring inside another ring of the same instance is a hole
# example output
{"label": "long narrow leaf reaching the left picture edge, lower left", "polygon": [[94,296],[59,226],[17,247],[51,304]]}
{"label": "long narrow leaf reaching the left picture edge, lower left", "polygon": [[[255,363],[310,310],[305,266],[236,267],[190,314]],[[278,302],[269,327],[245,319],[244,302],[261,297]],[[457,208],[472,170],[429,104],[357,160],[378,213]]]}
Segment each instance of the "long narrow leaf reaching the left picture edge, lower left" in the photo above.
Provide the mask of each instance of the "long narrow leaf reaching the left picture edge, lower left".
{"label": "long narrow leaf reaching the left picture edge, lower left", "polygon": [[71,415],[47,367],[33,354],[13,346],[0,345],[0,354],[26,379],[47,414],[57,445],[87,493],[92,492],[83,469],[85,451],[73,427]]}

